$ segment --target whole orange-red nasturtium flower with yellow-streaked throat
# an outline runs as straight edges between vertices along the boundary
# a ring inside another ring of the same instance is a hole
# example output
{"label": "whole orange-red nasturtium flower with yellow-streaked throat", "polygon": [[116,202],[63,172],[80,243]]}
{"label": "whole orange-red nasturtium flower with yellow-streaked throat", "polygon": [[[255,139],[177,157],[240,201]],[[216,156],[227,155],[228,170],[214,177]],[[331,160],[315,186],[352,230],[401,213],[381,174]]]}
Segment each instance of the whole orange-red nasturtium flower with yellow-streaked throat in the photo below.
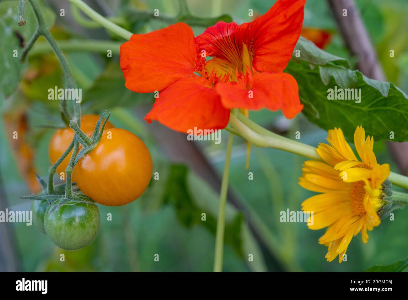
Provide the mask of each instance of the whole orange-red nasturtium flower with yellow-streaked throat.
{"label": "whole orange-red nasturtium flower with yellow-streaked throat", "polygon": [[299,39],[305,2],[278,0],[253,22],[217,22],[197,38],[184,23],[134,34],[120,47],[125,86],[161,91],[145,120],[187,132],[225,128],[233,108],[282,109],[295,117],[303,108],[297,82],[282,71]]}

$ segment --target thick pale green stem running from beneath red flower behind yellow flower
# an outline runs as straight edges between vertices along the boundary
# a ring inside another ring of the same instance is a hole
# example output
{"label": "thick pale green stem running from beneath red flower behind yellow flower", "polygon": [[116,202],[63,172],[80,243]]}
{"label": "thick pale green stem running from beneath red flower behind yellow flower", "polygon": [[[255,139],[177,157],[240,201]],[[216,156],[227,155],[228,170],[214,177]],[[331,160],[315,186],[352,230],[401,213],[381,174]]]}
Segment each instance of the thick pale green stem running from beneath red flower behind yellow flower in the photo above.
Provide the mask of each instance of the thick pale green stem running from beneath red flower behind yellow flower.
{"label": "thick pale green stem running from beneath red flower behind yellow flower", "polygon": [[[257,147],[280,149],[311,158],[313,160],[322,161],[322,158],[320,158],[320,156],[317,154],[315,147],[290,140],[268,131],[264,127],[261,127],[252,120],[246,118],[241,113],[238,113],[237,117],[231,114],[229,123],[233,129],[239,133],[239,135]],[[408,189],[407,176],[391,172],[388,179],[392,182],[392,184]]]}

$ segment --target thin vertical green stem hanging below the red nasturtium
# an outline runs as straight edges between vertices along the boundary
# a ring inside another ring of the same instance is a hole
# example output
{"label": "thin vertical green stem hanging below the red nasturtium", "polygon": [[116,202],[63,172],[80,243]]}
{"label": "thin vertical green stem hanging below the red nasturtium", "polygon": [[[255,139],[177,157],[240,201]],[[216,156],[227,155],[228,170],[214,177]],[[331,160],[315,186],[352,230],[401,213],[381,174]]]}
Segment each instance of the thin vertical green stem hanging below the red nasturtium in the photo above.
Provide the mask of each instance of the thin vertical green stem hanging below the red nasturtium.
{"label": "thin vertical green stem hanging below the red nasturtium", "polygon": [[[231,113],[237,113],[237,109]],[[222,256],[224,252],[224,231],[225,231],[225,205],[227,201],[227,192],[228,192],[228,177],[229,177],[229,169],[231,163],[231,151],[232,151],[232,144],[234,140],[234,134],[229,133],[227,147],[226,147],[226,154],[225,154],[225,163],[224,163],[224,171],[222,174],[222,182],[221,182],[221,191],[220,191],[220,206],[218,209],[218,219],[217,219],[217,232],[215,234],[215,256],[214,256],[214,272],[222,272]]]}

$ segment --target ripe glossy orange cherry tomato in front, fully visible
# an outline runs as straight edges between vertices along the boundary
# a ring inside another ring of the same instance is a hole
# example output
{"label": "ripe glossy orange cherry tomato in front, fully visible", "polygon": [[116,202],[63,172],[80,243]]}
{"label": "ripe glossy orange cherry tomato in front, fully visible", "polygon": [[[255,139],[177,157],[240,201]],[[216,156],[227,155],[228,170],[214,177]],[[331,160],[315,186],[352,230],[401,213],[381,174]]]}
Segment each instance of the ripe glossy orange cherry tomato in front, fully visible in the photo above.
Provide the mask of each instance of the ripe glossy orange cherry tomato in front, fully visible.
{"label": "ripe glossy orange cherry tomato in front, fully visible", "polygon": [[128,204],[146,190],[152,176],[152,159],[146,145],[130,131],[105,131],[98,145],[75,165],[77,186],[95,202]]}

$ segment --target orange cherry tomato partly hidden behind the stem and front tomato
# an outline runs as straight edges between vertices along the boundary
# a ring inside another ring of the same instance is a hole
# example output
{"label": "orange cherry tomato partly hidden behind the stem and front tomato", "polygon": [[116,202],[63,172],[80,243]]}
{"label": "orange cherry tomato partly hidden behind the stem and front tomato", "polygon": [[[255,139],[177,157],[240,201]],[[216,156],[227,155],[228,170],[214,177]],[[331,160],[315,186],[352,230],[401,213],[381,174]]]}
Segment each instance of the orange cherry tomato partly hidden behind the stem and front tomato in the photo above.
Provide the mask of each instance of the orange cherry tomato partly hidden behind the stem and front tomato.
{"label": "orange cherry tomato partly hidden behind the stem and front tomato", "polygon": [[[81,130],[84,131],[84,133],[87,136],[92,136],[93,130],[95,129],[95,125],[99,120],[98,115],[83,115],[81,118]],[[109,121],[106,122],[105,124],[105,129],[107,128],[112,128],[113,124]],[[63,129],[57,129],[54,133],[54,135],[51,138],[50,144],[49,144],[49,156],[52,164],[55,164],[55,162],[64,154],[65,150],[69,147],[69,144],[71,144],[72,139],[74,138],[74,131],[67,127]],[[81,147],[81,145],[80,145]],[[61,164],[57,167],[57,174],[58,176],[61,174],[61,172],[65,173],[65,169],[67,169],[69,160],[72,155],[72,150],[69,152],[66,158],[62,160]],[[64,176],[65,178],[65,176]]]}

